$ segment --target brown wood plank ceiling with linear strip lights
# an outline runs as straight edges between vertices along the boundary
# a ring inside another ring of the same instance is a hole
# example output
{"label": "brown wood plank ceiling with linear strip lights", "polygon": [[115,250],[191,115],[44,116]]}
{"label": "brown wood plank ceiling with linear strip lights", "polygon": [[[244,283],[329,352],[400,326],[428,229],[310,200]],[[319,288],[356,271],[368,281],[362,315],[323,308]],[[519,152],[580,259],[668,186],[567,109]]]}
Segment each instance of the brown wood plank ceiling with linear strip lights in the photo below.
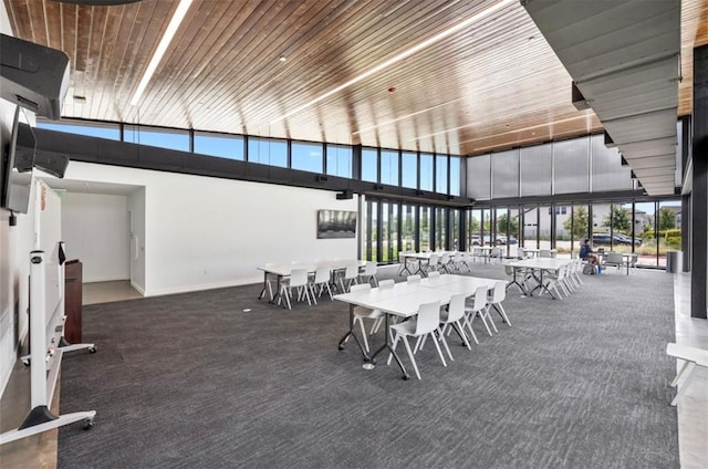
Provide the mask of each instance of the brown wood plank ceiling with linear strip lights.
{"label": "brown wood plank ceiling with linear strip lights", "polygon": [[[518,0],[195,0],[136,106],[177,0],[3,1],[14,35],[70,56],[64,117],[455,155],[602,129]],[[708,0],[684,0],[679,115],[707,24]]]}

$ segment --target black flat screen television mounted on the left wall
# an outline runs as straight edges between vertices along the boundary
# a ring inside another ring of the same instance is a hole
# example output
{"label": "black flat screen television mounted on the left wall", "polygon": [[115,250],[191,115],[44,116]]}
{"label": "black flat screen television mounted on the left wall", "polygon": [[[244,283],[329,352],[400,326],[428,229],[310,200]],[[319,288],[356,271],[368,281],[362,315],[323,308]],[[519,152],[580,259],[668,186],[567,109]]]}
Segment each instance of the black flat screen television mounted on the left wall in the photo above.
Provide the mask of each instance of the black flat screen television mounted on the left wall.
{"label": "black flat screen television mounted on the left wall", "polygon": [[30,205],[30,190],[32,189],[33,161],[15,158],[18,149],[18,131],[20,127],[20,106],[14,110],[10,139],[2,145],[2,164],[0,165],[0,207],[27,213]]}

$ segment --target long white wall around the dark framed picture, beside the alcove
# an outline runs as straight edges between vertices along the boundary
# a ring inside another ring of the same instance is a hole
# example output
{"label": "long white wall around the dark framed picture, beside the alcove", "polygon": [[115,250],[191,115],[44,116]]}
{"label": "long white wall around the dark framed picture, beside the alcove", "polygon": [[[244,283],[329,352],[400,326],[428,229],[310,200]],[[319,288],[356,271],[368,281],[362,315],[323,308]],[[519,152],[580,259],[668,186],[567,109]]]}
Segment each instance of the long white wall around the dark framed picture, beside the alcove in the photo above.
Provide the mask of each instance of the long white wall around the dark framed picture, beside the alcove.
{"label": "long white wall around the dark framed picture, beside the alcove", "polygon": [[333,191],[79,161],[65,178],[145,186],[147,296],[257,283],[266,262],[356,257],[356,239],[316,239],[317,209],[357,208]]}

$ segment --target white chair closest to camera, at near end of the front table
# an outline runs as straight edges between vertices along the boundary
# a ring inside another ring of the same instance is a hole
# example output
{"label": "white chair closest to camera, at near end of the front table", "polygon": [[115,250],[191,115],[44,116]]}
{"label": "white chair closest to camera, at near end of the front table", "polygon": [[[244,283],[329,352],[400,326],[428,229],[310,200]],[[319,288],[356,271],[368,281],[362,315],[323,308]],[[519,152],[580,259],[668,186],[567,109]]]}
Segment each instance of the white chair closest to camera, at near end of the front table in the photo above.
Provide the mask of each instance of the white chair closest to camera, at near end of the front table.
{"label": "white chair closest to camera, at near end of the front table", "polygon": [[[418,309],[418,314],[415,319],[410,319],[408,321],[394,324],[391,326],[392,332],[394,333],[394,343],[393,350],[396,350],[396,345],[398,345],[398,341],[403,340],[404,345],[406,346],[406,352],[408,352],[408,357],[410,358],[410,363],[413,364],[413,369],[416,372],[416,376],[420,379],[420,373],[418,372],[418,365],[416,364],[416,359],[413,356],[414,352],[410,350],[410,344],[408,343],[407,337],[417,337],[418,342],[416,343],[416,351],[420,344],[420,340],[424,336],[433,335],[430,338],[435,344],[435,347],[438,351],[438,356],[442,362],[442,366],[447,367],[447,363],[445,363],[445,357],[442,356],[442,351],[440,351],[440,346],[438,345],[438,338],[442,337],[440,333],[440,302],[436,301],[433,303],[424,303]],[[437,337],[435,333],[438,333]],[[445,338],[441,341],[446,346],[447,343]],[[392,354],[388,354],[388,364],[391,365],[391,359],[393,358]]]}

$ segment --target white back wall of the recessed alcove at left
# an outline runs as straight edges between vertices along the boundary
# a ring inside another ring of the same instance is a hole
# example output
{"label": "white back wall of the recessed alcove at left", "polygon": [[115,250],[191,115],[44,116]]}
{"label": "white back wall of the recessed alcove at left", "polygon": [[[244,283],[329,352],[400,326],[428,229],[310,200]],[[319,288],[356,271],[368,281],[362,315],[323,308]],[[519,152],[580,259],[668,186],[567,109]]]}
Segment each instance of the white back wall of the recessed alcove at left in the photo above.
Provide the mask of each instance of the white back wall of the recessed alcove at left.
{"label": "white back wall of the recessed alcove at left", "polygon": [[66,259],[83,263],[84,283],[129,278],[126,196],[65,192],[62,238]]}

